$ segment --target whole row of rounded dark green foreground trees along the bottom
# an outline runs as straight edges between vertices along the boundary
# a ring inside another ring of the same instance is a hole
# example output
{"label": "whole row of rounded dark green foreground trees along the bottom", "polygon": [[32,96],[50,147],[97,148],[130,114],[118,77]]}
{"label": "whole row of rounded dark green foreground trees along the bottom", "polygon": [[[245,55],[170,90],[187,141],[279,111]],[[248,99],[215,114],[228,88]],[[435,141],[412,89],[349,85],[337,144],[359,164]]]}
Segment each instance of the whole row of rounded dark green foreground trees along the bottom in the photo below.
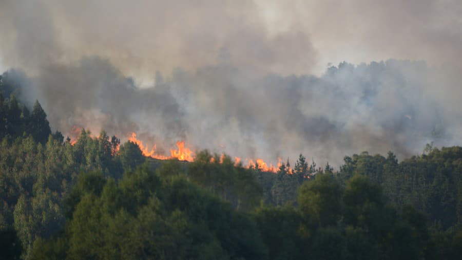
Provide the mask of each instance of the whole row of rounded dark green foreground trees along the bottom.
{"label": "whole row of rounded dark green foreground trees along the bottom", "polygon": [[[440,259],[425,215],[400,211],[378,184],[331,173],[299,189],[300,207],[238,211],[186,175],[147,166],[119,181],[81,174],[64,201],[66,224],[35,240],[33,259]],[[446,237],[443,235],[443,237]],[[460,233],[458,234],[460,237]],[[457,238],[460,239],[460,238]],[[445,256],[456,259],[458,240]]]}

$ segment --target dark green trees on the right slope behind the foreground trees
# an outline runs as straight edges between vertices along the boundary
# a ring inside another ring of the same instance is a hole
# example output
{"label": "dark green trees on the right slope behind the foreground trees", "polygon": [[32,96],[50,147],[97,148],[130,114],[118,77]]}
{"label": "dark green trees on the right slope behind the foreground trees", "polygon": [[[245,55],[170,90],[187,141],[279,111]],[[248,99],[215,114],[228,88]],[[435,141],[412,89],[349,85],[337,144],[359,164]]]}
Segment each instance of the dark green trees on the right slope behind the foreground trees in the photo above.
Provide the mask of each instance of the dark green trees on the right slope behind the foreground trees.
{"label": "dark green trees on the right slope behind the foreground trees", "polygon": [[382,185],[394,205],[412,205],[444,229],[462,224],[462,147],[427,146],[426,153],[400,163],[393,153],[387,157],[362,153],[344,161],[342,179],[368,176]]}

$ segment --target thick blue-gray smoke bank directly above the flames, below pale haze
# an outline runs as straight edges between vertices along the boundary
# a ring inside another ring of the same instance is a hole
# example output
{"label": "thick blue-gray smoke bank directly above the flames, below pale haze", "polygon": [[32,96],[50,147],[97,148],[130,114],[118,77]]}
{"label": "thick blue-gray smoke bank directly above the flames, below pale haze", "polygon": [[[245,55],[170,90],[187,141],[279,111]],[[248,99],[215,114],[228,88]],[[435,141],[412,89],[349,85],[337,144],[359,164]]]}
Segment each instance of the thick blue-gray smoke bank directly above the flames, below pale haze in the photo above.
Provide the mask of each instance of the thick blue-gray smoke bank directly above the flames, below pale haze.
{"label": "thick blue-gray smoke bank directly above the flames, below pale haze", "polygon": [[[449,69],[389,60],[341,63],[323,76],[253,78],[230,64],[181,69],[148,88],[100,58],[44,69],[23,89],[52,125],[275,161],[299,153],[339,163],[362,151],[408,156],[462,143],[460,81]],[[66,87],[70,84],[72,87]],[[168,151],[168,150],[167,150]]]}

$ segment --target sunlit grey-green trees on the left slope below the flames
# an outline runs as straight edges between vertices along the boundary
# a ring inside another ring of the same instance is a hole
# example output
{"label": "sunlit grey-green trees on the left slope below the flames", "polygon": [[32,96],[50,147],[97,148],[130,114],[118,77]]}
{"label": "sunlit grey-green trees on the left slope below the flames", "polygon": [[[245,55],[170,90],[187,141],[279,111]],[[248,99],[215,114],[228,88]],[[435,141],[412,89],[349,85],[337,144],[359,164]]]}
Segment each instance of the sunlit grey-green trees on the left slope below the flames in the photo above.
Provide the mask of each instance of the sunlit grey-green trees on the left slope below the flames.
{"label": "sunlit grey-green trees on the left slope below the flames", "polygon": [[15,227],[26,250],[35,237],[49,237],[63,226],[62,199],[81,172],[98,170],[104,176],[119,177],[124,168],[131,169],[144,161],[139,149],[139,153],[127,153],[121,148],[112,154],[110,145],[104,132],[98,138],[91,138],[82,131],[74,145],[51,135],[44,145],[35,142],[32,136],[3,139],[0,220]]}

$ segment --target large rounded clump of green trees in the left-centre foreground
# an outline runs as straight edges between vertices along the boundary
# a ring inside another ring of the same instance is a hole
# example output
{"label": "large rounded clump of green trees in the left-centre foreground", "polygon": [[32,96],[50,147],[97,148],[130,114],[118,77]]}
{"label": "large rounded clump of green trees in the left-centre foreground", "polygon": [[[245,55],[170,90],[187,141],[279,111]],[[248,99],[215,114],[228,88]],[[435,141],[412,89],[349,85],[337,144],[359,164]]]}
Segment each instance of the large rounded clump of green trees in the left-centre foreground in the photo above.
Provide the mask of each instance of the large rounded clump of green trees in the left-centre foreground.
{"label": "large rounded clump of green trees in the left-centre foreground", "polygon": [[32,258],[266,257],[249,215],[184,177],[160,178],[140,168],[117,183],[82,174],[65,205],[71,210],[64,233],[45,245],[38,240]]}

